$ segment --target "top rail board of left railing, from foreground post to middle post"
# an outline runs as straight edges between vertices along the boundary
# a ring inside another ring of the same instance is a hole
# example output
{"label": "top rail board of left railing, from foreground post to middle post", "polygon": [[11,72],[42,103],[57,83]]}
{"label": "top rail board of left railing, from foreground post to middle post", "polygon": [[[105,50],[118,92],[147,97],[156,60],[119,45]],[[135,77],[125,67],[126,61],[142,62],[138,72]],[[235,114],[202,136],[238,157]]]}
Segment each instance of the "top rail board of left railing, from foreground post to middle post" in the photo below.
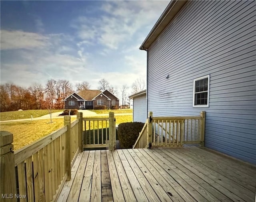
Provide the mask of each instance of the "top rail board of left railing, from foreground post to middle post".
{"label": "top rail board of left railing, from foreground post to middle post", "polygon": [[50,144],[56,138],[60,137],[63,133],[68,130],[67,126],[64,126],[53,133],[42,137],[41,139],[14,151],[14,162],[15,166],[20,164],[22,161],[26,160],[28,157],[32,156],[40,149],[44,148],[46,145]]}

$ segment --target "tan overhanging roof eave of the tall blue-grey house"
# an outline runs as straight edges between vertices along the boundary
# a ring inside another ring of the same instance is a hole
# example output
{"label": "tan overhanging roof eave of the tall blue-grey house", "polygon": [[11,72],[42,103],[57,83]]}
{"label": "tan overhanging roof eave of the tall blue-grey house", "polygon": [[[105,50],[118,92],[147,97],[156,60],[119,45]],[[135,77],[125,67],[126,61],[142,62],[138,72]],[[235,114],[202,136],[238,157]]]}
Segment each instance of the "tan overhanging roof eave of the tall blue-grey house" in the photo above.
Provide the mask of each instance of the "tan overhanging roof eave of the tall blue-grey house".
{"label": "tan overhanging roof eave of the tall blue-grey house", "polygon": [[166,28],[166,26],[172,21],[172,19],[180,11],[182,6],[186,4],[186,2],[187,2],[186,0],[184,1],[172,0],[168,4],[168,6],[164,10],[160,18],[158,19],[158,21],[156,22],[156,24],[154,25],[154,27],[152,28],[152,30],[150,31],[150,33],[148,34],[148,36],[146,37],[142,45],[140,46],[140,50],[148,50],[151,44],[156,40],[156,38],[158,38],[158,36],[162,33],[162,31]]}

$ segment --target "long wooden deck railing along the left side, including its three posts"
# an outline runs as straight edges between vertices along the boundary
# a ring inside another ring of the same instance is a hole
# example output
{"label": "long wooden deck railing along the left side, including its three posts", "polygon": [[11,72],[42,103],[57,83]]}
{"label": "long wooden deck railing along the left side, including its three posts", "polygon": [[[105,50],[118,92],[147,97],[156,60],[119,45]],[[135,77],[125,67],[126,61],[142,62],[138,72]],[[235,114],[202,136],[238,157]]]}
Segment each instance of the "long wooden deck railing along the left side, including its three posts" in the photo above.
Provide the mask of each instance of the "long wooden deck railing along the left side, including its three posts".
{"label": "long wooden deck railing along the left side, including its three posts", "polygon": [[15,152],[12,133],[1,131],[3,201],[17,201],[18,196],[26,196],[20,202],[58,198],[64,182],[70,180],[72,164],[82,148],[82,113],[77,118],[71,123],[70,116],[65,116],[64,127]]}

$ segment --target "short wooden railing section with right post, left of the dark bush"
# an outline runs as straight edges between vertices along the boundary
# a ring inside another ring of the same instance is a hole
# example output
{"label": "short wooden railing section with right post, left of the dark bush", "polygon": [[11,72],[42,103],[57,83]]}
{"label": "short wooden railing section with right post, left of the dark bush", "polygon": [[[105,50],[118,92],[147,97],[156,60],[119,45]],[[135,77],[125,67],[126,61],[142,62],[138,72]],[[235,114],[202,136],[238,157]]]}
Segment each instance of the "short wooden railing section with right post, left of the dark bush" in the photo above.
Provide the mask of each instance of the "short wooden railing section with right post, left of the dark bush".
{"label": "short wooden railing section with right post, left of the dark bush", "polygon": [[116,119],[114,112],[109,117],[90,117],[84,120],[84,148],[116,147]]}

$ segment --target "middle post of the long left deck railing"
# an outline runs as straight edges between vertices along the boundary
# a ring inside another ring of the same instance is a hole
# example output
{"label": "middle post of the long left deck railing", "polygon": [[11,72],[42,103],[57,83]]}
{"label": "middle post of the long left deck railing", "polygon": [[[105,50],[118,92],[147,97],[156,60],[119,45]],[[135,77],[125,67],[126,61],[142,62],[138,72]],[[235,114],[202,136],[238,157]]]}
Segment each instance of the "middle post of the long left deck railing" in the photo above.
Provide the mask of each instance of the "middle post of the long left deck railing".
{"label": "middle post of the long left deck railing", "polygon": [[68,126],[66,131],[66,172],[68,174],[67,181],[71,179],[71,118],[69,115],[64,116],[64,125]]}

